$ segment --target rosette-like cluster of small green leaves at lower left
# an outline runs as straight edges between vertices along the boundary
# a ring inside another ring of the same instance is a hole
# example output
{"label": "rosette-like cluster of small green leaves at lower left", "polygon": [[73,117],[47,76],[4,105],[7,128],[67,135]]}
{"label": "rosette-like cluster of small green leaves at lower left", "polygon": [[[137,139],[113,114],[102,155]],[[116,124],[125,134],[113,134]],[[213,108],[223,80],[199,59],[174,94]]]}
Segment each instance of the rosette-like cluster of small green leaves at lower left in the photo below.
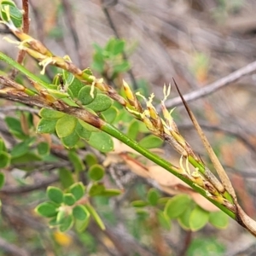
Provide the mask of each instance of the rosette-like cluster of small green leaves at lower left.
{"label": "rosette-like cluster of small green leaves at lower left", "polygon": [[[73,152],[73,151],[71,151]],[[70,154],[72,158],[77,154]],[[83,231],[90,222],[90,216],[94,218],[96,223],[105,229],[102,219],[90,205],[90,198],[93,196],[116,196],[120,195],[119,189],[107,189],[100,181],[105,175],[103,166],[95,163],[91,155],[87,156],[89,165],[88,177],[90,183],[85,188],[83,183],[74,183],[73,175],[66,168],[59,170],[61,184],[64,190],[49,186],[47,196],[49,201],[44,201],[36,208],[36,212],[44,218],[49,218],[49,225],[58,228],[61,232],[71,229],[73,226],[79,232]],[[75,161],[73,159],[73,161]],[[76,163],[77,168],[81,168]],[[80,169],[75,171],[80,172]]]}

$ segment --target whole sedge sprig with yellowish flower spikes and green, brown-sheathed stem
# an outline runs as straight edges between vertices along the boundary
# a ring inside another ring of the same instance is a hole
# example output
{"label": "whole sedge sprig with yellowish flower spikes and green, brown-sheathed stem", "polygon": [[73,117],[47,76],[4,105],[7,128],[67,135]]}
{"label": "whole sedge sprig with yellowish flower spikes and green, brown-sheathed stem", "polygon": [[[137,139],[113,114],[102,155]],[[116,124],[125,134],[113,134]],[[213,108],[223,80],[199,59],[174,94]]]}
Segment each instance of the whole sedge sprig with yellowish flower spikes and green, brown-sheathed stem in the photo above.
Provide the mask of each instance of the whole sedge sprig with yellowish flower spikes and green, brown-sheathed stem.
{"label": "whole sedge sprig with yellowish flower spikes and green, brown-sheathed stem", "polygon": [[[192,148],[189,146],[189,143],[180,135],[177,130],[177,125],[172,119],[171,113],[169,113],[164,105],[168,92],[165,94],[165,99],[162,101],[162,111],[164,119],[161,119],[159,114],[156,112],[154,106],[152,105],[153,96],[146,100],[147,108],[143,110],[140,102],[137,100],[137,96],[133,94],[129,86],[125,86],[125,95],[127,101],[124,97],[119,96],[116,90],[114,90],[108,84],[105,84],[103,79],[96,79],[90,73],[82,72],[78,67],[76,67],[67,57],[61,58],[59,56],[53,55],[49,52],[48,49],[44,47],[43,44],[31,38],[30,36],[20,32],[17,29],[13,31],[15,35],[20,38],[21,43],[19,48],[24,49],[29,55],[38,59],[39,64],[47,67],[49,64],[56,67],[61,67],[64,70],[67,70],[70,73],[83,82],[85,85],[89,84],[92,88],[94,86],[99,90],[102,90],[103,93],[111,97],[114,101],[119,102],[127,111],[132,113],[137,119],[143,121],[147,125],[148,130],[153,132],[154,135],[162,138],[167,143],[170,143],[173,148],[181,154],[180,167],[172,166],[166,160],[162,160],[157,155],[150,153],[145,148],[140,147],[137,142],[131,140],[128,137],[114,128],[112,125],[104,122],[97,115],[88,112],[84,108],[73,108],[72,105],[65,102],[65,97],[68,95],[64,92],[60,92],[57,88],[54,89],[45,89],[48,84],[41,83],[40,80],[35,79],[32,73],[25,71],[23,68],[20,68],[20,64],[15,64],[14,67],[18,68],[20,72],[26,72],[26,76],[31,79],[35,84],[34,86],[38,89],[39,84],[39,94],[38,96],[28,96],[25,90],[17,92],[17,90],[0,90],[0,95],[3,97],[9,98],[11,100],[30,103],[38,107],[52,108],[64,113],[73,115],[78,119],[84,120],[86,123],[95,126],[96,128],[107,132],[109,135],[117,138],[119,141],[125,143],[131,148],[135,149],[138,153],[143,154],[149,160],[154,161],[154,163],[162,166],[168,172],[172,172],[175,176],[182,179],[185,183],[189,184],[190,187],[195,189],[198,193],[205,196],[209,201],[214,205],[220,208],[222,211],[226,212],[231,218],[236,219],[239,224],[246,227],[254,236],[256,234],[256,224],[253,219],[249,218],[245,212],[241,210],[241,207],[238,205],[237,201],[233,201],[234,196],[230,195],[230,192],[226,190],[224,185],[218,181],[218,179],[210,172],[210,170],[205,166],[202,160],[196,156]],[[9,57],[1,54],[1,59],[13,65],[13,61],[9,60]],[[128,84],[127,84],[128,85]],[[43,86],[44,90],[41,90],[40,86]],[[128,88],[128,90],[127,90]],[[22,95],[20,97],[20,95]],[[18,98],[19,96],[19,98]],[[64,100],[61,100],[64,98]],[[45,101],[46,100],[46,101]],[[75,106],[78,106],[76,102],[73,102]],[[186,169],[182,166],[183,157],[189,161],[189,163],[195,167],[195,172],[190,172],[189,167],[186,166]],[[200,174],[199,174],[200,173]]]}

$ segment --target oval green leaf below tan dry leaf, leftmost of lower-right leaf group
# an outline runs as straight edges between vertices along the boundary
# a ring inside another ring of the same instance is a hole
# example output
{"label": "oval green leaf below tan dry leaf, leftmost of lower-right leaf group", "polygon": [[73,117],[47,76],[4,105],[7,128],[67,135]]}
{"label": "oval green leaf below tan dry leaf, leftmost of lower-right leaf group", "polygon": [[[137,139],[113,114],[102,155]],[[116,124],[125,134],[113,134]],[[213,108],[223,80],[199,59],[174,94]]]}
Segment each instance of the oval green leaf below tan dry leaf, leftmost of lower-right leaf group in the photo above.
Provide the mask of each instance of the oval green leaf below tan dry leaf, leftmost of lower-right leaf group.
{"label": "oval green leaf below tan dry leaf, leftmost of lower-right leaf group", "polygon": [[191,201],[189,195],[175,195],[166,203],[165,213],[169,218],[177,218],[181,215]]}

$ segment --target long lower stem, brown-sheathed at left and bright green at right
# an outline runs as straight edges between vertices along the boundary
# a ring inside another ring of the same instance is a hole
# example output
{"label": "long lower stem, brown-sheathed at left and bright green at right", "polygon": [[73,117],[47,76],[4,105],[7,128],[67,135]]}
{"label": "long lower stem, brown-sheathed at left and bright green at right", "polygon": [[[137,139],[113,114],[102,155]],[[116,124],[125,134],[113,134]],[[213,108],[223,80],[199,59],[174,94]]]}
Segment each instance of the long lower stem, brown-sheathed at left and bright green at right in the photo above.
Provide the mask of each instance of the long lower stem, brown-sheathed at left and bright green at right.
{"label": "long lower stem, brown-sheathed at left and bright green at right", "polygon": [[172,166],[172,164],[162,158],[160,156],[153,154],[148,149],[141,147],[136,141],[132,140],[129,137],[126,137],[124,133],[119,131],[113,125],[108,124],[104,120],[100,119],[93,113],[90,113],[84,108],[75,108],[68,106],[65,102],[61,102],[58,100],[56,102],[45,102],[43,96],[28,96],[25,92],[20,92],[20,94],[15,95],[13,92],[6,92],[5,90],[0,90],[0,96],[9,98],[11,100],[15,100],[22,103],[29,103],[36,105],[40,108],[51,108],[57,111],[61,111],[63,113],[70,114],[78,119],[83,120],[84,122],[93,125],[94,127],[100,129],[101,131],[105,131],[112,137],[117,138],[122,143],[125,143],[127,146],[135,149],[138,153],[143,154],[148,160],[152,160],[155,164],[166,169],[167,172],[171,172],[176,177],[179,177],[183,180],[183,182],[187,183],[191,188],[195,189],[196,192],[200,193],[204,197],[206,197],[209,201],[211,201],[215,206],[220,208],[222,211],[226,212],[231,218],[236,218],[234,212],[230,211],[227,207],[214,200],[212,195],[207,193],[207,190],[202,189],[196,183],[191,181],[189,177],[183,172],[183,170],[179,167]]}

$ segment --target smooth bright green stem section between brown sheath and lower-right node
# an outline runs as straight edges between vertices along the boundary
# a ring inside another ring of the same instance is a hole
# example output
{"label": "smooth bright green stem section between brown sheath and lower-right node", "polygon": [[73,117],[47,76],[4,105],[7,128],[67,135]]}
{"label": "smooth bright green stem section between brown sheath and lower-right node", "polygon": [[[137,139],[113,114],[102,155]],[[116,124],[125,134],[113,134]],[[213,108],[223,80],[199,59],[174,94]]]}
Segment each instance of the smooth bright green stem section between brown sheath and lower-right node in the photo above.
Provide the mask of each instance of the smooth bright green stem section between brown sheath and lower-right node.
{"label": "smooth bright green stem section between brown sheath and lower-right node", "polygon": [[104,123],[104,125],[101,126],[101,130],[107,132],[112,137],[117,138],[122,143],[125,143],[130,148],[133,148],[138,153],[143,154],[148,160],[152,160],[155,164],[158,166],[163,167],[166,169],[166,171],[171,172],[176,177],[183,180],[184,183],[187,183],[192,189],[194,189],[196,192],[200,193],[204,197],[207,198],[208,201],[211,201],[212,204],[214,204],[216,207],[218,207],[220,210],[228,214],[231,218],[236,218],[236,215],[234,212],[231,212],[229,209],[218,203],[217,201],[212,200],[209,196],[207,196],[207,193],[204,189],[201,189],[199,186],[197,186],[195,183],[193,183],[189,178],[184,177],[182,174],[178,173],[175,170],[175,167],[172,166],[171,163],[168,161],[160,158],[160,156],[151,153],[148,149],[141,147],[136,141],[131,140],[129,137],[126,137],[125,134],[123,134],[121,131],[116,129],[113,125],[109,125],[107,123]]}

